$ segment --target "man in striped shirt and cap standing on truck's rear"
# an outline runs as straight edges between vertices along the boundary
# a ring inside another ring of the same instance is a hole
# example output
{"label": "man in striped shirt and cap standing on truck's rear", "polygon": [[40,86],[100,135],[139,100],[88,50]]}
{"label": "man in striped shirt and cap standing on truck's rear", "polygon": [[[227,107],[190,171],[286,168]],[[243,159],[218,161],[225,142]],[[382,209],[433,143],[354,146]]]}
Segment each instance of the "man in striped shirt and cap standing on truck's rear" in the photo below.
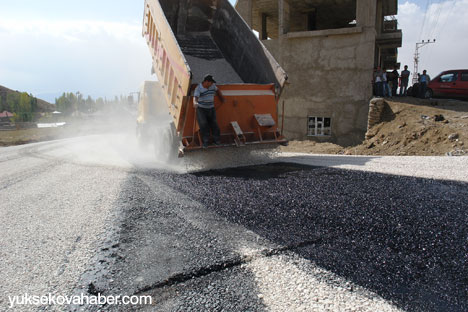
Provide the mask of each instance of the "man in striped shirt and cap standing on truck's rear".
{"label": "man in striped shirt and cap standing on truck's rear", "polygon": [[207,148],[210,141],[210,130],[215,145],[220,145],[220,130],[216,121],[214,97],[217,95],[224,103],[224,97],[216,86],[212,75],[206,75],[193,93],[193,107],[197,110],[197,121],[202,137],[202,147]]}

